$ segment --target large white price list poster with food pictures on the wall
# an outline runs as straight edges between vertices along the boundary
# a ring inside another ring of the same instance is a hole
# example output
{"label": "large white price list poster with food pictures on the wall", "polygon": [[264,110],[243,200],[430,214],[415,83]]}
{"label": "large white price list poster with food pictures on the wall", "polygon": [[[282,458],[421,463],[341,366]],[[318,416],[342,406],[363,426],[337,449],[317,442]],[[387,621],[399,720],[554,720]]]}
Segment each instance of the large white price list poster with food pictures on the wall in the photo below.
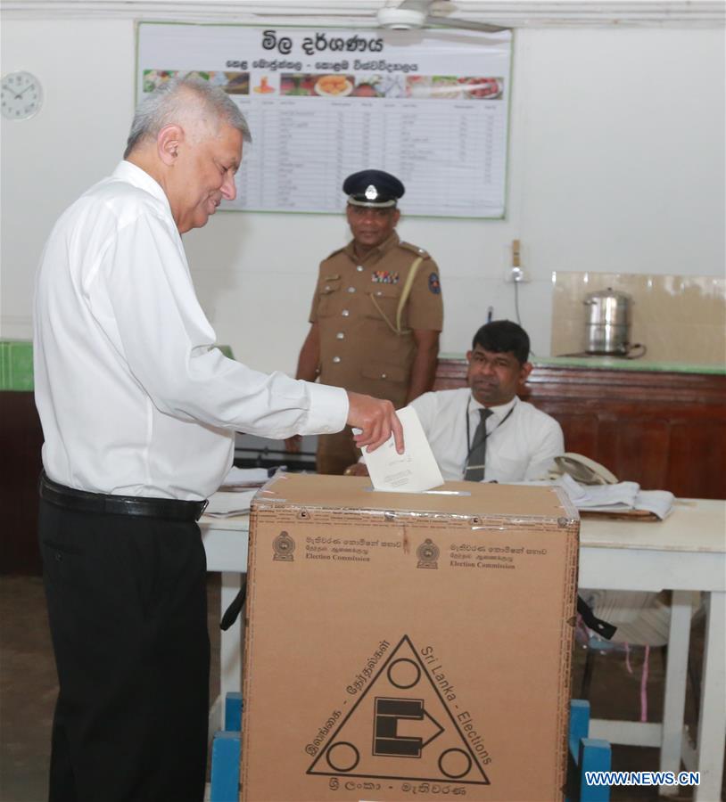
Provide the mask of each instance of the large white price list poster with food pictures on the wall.
{"label": "large white price list poster with food pictures on the wall", "polygon": [[141,25],[137,88],[193,75],[243,111],[252,144],[227,209],[340,213],[345,177],[377,168],[405,184],[407,215],[498,218],[510,63],[508,31]]}

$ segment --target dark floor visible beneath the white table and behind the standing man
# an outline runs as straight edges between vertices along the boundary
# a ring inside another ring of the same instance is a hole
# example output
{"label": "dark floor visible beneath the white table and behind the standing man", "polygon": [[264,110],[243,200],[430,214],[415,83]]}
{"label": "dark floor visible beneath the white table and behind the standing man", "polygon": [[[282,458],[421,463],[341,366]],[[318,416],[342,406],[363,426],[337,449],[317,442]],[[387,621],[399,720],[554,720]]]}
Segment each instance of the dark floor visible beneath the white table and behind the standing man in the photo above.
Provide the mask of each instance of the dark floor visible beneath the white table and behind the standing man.
{"label": "dark floor visible beneath the white table and behind the standing man", "polygon": [[[212,655],[219,652],[219,575],[210,575],[210,638]],[[39,577],[0,577],[0,802],[42,802],[47,793],[48,744],[56,693],[56,679],[48,633],[43,586]],[[703,635],[693,633],[693,649],[700,654]],[[637,718],[642,651],[631,652],[630,674],[622,652],[598,658],[590,701],[593,716]],[[584,651],[575,652],[573,695],[582,681]],[[650,659],[648,720],[662,713],[663,654]],[[219,665],[212,660],[211,687],[219,687]],[[695,705],[689,690],[686,720],[693,725]],[[615,747],[613,768],[656,771],[656,749]],[[689,790],[672,797],[689,799]],[[613,800],[655,800],[655,788],[613,789]],[[290,800],[294,802],[294,800]],[[523,800],[526,802],[526,800]]]}

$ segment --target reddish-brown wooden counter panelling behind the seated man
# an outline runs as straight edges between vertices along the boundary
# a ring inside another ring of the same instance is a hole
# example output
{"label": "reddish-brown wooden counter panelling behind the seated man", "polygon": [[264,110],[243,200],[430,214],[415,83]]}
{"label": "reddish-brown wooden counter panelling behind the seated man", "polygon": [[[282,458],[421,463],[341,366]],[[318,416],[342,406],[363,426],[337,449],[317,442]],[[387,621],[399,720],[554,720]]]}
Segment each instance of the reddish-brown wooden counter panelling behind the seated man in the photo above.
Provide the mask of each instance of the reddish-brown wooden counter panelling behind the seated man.
{"label": "reddish-brown wooden counter panelling behind the seated man", "polygon": [[[464,385],[466,360],[441,359],[435,389]],[[726,498],[726,375],[535,364],[520,395],[618,479]]]}

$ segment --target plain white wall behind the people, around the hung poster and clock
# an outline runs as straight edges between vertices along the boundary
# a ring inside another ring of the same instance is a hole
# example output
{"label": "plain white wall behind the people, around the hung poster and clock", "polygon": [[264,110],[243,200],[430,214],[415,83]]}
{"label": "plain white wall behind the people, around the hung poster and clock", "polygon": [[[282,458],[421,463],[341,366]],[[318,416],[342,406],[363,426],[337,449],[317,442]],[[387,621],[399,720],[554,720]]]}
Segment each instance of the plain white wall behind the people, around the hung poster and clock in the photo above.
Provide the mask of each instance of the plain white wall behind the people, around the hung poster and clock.
{"label": "plain white wall behind the people, around the hung poster and clock", "polygon": [[[2,38],[3,73],[36,73],[46,95],[37,118],[2,128],[0,334],[24,338],[55,217],[120,159],[135,37],[120,19],[5,20]],[[490,305],[515,316],[503,281],[513,238],[539,355],[554,270],[723,274],[722,29],[521,29],[513,66],[507,219],[400,223],[441,266],[443,351],[466,350]],[[254,367],[293,372],[318,261],[345,240],[337,217],[234,212],[187,234],[219,342]]]}

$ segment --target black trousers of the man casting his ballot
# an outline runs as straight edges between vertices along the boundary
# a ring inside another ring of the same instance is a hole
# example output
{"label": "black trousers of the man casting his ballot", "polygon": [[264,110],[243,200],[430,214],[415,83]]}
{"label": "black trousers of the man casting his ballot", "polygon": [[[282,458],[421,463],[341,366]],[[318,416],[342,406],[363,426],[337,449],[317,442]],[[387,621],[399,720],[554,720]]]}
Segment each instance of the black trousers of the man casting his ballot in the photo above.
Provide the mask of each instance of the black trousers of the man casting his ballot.
{"label": "black trousers of the man casting his ballot", "polygon": [[206,559],[193,521],[40,502],[60,692],[50,802],[201,802]]}

